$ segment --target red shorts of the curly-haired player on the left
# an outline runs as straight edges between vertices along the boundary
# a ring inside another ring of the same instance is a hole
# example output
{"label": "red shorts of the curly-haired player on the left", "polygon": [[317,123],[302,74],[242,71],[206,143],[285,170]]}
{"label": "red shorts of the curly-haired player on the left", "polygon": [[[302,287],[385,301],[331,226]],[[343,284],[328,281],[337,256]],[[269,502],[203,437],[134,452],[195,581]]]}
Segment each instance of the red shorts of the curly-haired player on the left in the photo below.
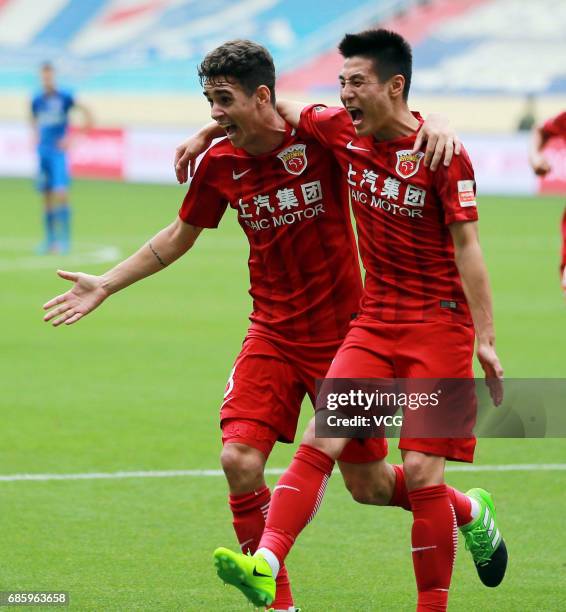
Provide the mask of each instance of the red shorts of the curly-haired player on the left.
{"label": "red shorts of the curly-haired player on the left", "polygon": [[[293,442],[306,395],[326,375],[340,342],[296,343],[251,328],[230,373],[220,409],[222,442],[257,448],[267,457],[275,441]],[[381,441],[380,441],[381,442]],[[340,457],[367,463],[385,455],[373,440],[352,440]]]}

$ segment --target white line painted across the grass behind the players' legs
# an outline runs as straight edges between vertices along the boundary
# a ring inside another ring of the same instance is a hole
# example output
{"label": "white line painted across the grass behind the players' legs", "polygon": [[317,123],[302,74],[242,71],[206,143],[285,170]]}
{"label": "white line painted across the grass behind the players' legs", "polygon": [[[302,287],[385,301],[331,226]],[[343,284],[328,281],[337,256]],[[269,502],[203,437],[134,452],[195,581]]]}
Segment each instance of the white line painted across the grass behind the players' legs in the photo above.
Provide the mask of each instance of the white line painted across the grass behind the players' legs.
{"label": "white line painted across the grass behind the players' legs", "polygon": [[[283,468],[268,468],[266,474],[278,475]],[[449,465],[447,472],[552,472],[566,471],[566,463],[516,463],[502,465]],[[150,472],[87,472],[85,474],[6,474],[0,482],[51,480],[112,480],[120,478],[208,478],[223,476],[222,470],[164,470]]]}

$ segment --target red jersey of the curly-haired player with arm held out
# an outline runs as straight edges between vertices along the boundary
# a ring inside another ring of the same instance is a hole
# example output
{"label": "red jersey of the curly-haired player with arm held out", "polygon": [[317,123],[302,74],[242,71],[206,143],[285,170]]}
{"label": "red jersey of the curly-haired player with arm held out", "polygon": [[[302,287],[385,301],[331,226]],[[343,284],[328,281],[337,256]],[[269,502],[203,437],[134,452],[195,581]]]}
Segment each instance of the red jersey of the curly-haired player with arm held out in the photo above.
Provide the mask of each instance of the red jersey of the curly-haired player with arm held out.
{"label": "red jersey of the curly-haired player with arm held out", "polygon": [[289,126],[281,146],[264,155],[222,140],[204,155],[179,216],[213,228],[228,206],[250,244],[250,320],[296,341],[343,338],[362,282],[332,154]]}

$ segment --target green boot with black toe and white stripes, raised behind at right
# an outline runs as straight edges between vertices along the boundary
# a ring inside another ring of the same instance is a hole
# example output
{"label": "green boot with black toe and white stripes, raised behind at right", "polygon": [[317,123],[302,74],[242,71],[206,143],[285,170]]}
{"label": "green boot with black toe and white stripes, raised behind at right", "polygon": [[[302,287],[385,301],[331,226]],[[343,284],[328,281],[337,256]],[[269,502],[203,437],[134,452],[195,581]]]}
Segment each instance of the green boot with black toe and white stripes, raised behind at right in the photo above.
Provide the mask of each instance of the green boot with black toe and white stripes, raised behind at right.
{"label": "green boot with black toe and white stripes, raised behind at right", "polygon": [[470,489],[468,497],[475,499],[481,510],[477,519],[460,529],[466,539],[466,549],[472,554],[480,580],[488,587],[501,584],[507,569],[507,547],[501,537],[491,495],[484,489]]}

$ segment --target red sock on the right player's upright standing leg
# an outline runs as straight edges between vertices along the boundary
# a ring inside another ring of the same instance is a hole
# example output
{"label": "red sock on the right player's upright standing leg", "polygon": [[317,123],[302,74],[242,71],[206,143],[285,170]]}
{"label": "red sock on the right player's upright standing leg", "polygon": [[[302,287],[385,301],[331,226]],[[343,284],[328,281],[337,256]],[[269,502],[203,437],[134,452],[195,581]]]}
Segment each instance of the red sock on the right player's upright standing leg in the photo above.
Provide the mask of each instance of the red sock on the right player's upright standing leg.
{"label": "red sock on the right player's upright standing leg", "polygon": [[413,507],[411,544],[417,579],[417,612],[445,612],[456,558],[458,528],[446,485],[409,493]]}

